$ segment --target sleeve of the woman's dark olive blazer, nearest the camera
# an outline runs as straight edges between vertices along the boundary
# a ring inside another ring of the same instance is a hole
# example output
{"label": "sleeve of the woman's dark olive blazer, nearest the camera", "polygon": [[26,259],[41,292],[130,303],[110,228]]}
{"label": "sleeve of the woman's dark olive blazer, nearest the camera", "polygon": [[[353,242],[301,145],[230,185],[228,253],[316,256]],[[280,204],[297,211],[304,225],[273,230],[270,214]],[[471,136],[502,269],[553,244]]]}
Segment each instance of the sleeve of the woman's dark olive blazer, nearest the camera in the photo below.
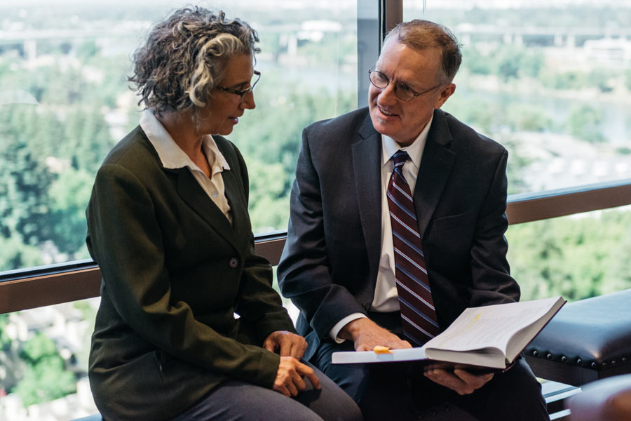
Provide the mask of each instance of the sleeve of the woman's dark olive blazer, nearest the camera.
{"label": "sleeve of the woman's dark olive blazer, nearest the camera", "polygon": [[[106,163],[97,174],[88,206],[88,246],[116,312],[142,338],[178,359],[271,387],[280,361],[277,354],[219,334],[198,321],[186,302],[170,299],[154,199],[124,166]],[[253,270],[253,261],[250,258],[246,272]],[[247,287],[245,295],[256,289]]]}

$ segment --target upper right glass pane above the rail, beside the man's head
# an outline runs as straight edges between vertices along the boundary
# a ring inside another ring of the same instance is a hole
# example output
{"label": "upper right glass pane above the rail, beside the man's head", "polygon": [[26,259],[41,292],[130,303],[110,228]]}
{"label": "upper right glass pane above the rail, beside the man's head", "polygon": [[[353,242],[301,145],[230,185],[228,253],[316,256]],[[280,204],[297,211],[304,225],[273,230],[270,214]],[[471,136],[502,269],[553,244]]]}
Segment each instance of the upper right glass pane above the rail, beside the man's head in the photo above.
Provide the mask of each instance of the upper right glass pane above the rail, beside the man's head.
{"label": "upper right glass pane above the rail, beside the man's head", "polygon": [[443,109],[509,149],[509,194],[631,178],[629,1],[403,3],[463,45]]}

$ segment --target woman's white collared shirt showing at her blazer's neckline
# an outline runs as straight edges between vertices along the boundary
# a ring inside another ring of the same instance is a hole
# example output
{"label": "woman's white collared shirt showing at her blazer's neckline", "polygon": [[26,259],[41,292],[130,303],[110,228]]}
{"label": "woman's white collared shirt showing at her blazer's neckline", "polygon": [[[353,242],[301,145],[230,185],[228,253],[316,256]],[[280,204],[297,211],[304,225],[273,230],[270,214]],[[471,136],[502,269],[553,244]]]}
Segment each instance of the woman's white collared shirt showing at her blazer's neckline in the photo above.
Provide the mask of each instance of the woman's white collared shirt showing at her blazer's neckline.
{"label": "woman's white collared shirt showing at her blazer's neckline", "polygon": [[149,109],[140,116],[140,127],[149,138],[151,145],[154,145],[158,157],[164,168],[189,168],[191,174],[197,180],[210,200],[217,208],[222,210],[226,218],[232,223],[232,213],[224,187],[222,171],[230,170],[224,155],[219,152],[219,148],[211,135],[205,135],[202,140],[202,149],[210,166],[210,178],[199,168],[188,155],[175,143],[171,135],[166,131],[162,123],[156,119],[154,113]]}

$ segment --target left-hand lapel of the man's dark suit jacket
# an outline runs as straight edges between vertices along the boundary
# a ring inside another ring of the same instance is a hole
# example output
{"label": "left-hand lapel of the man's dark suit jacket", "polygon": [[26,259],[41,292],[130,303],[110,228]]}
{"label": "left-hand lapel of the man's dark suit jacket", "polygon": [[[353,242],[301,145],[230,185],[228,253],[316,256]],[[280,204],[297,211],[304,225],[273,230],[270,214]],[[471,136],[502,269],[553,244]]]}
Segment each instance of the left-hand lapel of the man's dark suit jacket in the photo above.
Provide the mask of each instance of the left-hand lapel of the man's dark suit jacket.
{"label": "left-hand lapel of the man's dark suit jacket", "polygon": [[381,253],[381,135],[374,130],[370,116],[358,133],[360,140],[351,147],[355,191],[370,272],[374,269],[376,273]]}

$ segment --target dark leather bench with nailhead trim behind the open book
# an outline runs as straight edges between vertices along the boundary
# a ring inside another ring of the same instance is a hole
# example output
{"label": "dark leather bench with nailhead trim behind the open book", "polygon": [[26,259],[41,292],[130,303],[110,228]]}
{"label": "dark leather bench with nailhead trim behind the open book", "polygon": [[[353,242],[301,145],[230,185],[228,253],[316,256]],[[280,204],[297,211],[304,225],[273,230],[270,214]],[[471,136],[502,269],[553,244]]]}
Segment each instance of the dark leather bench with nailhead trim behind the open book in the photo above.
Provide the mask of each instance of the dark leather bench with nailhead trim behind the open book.
{"label": "dark leather bench with nailhead trim behind the open book", "polygon": [[537,377],[567,385],[631,373],[631,289],[564,305],[524,354]]}

